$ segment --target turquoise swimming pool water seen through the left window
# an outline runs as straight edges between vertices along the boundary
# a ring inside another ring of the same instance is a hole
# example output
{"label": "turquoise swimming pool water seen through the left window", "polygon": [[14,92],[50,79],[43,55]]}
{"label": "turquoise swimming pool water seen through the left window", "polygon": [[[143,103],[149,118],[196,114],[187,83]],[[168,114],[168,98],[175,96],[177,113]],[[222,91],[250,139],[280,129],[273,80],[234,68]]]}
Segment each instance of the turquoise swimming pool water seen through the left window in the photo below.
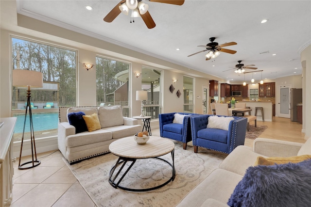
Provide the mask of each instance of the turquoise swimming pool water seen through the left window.
{"label": "turquoise swimming pool water seen through the left window", "polygon": [[[58,112],[32,113],[32,115],[35,131],[57,129]],[[14,133],[23,133],[25,114],[15,114],[14,117],[17,117]],[[25,132],[30,132],[29,114],[26,118]]]}

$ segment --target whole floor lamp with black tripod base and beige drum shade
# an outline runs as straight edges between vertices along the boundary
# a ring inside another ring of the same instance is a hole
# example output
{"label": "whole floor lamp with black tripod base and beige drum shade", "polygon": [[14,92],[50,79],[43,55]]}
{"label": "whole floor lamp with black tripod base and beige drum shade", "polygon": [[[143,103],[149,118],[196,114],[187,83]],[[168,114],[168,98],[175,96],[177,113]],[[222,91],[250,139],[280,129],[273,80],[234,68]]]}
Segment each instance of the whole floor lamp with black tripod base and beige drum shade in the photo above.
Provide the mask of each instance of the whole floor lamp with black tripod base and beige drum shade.
{"label": "whole floor lamp with black tripod base and beige drum shade", "polygon": [[[37,154],[35,151],[35,133],[34,133],[34,125],[33,125],[33,115],[31,112],[31,104],[30,104],[30,97],[31,97],[30,88],[42,88],[43,87],[43,74],[40,72],[32,71],[32,70],[19,70],[19,69],[13,70],[13,86],[28,88],[23,136],[21,139],[19,161],[18,161],[18,169],[25,170],[25,169],[30,169],[35,166],[38,166],[41,163],[41,161],[37,160]],[[20,164],[28,109],[29,109],[29,120],[30,120],[30,142],[31,142],[32,161],[28,161],[23,164]],[[34,155],[35,155],[35,158],[34,158]],[[32,165],[27,165],[30,163]]]}

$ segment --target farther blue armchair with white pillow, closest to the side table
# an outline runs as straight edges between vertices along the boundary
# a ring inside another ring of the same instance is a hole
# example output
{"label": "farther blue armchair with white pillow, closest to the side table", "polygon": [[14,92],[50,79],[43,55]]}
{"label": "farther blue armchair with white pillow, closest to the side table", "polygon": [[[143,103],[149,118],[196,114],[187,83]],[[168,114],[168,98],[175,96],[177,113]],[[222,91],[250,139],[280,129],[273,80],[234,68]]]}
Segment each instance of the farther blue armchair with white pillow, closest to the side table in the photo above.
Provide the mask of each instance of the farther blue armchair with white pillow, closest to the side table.
{"label": "farther blue armchair with white pillow, closest to the side table", "polygon": [[160,125],[160,136],[169,138],[178,142],[182,142],[183,148],[187,149],[187,143],[192,140],[191,128],[190,128],[190,117],[192,115],[198,115],[196,113],[179,113],[182,115],[189,115],[183,118],[182,124],[173,123],[173,113],[162,113],[159,114],[159,125]]}

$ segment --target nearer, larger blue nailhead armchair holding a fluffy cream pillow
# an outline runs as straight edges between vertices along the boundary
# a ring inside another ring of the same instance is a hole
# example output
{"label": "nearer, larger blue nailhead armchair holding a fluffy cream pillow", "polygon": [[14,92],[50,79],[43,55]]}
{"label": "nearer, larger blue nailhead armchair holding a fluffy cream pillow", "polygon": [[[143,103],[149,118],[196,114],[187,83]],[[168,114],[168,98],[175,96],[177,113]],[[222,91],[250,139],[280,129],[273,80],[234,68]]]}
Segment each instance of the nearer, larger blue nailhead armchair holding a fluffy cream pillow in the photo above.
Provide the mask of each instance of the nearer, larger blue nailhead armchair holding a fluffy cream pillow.
{"label": "nearer, larger blue nailhead armchair holding a fluffy cream pillow", "polygon": [[213,115],[199,115],[190,117],[192,143],[194,152],[198,146],[229,154],[245,141],[247,118],[236,117],[229,122],[228,130],[207,128],[208,117]]}

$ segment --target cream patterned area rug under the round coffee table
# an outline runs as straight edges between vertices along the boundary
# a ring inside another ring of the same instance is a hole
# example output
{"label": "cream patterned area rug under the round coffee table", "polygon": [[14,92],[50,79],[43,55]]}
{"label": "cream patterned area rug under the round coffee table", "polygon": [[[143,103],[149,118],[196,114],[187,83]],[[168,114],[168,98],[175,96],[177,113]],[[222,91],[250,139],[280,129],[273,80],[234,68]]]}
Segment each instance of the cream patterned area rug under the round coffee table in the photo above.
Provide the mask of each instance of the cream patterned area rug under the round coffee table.
{"label": "cream patterned area rug under the round coffee table", "polygon": [[[98,207],[173,207],[218,168],[226,156],[203,148],[194,153],[192,146],[183,150],[182,144],[175,142],[175,179],[159,189],[145,192],[124,191],[109,184],[109,171],[118,159],[111,153],[73,165],[64,161]],[[161,158],[172,161],[170,153]],[[150,188],[172,176],[172,167],[165,162],[157,159],[138,161],[121,181],[122,186]]]}

